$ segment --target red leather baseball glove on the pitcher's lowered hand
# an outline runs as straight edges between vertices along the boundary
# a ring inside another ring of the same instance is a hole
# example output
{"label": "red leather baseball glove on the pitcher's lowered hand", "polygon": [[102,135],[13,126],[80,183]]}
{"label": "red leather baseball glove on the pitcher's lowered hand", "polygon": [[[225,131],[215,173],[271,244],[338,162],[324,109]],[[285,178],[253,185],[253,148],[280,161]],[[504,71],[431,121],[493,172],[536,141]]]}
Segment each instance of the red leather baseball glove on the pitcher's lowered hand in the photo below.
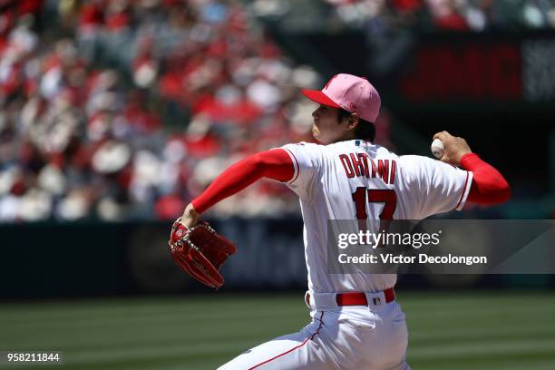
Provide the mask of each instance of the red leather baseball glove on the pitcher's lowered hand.
{"label": "red leather baseball glove on the pitcher's lowered hand", "polygon": [[171,257],[178,266],[209,287],[223,286],[219,268],[237,251],[235,245],[219,235],[208,222],[188,228],[177,219],[171,227]]}

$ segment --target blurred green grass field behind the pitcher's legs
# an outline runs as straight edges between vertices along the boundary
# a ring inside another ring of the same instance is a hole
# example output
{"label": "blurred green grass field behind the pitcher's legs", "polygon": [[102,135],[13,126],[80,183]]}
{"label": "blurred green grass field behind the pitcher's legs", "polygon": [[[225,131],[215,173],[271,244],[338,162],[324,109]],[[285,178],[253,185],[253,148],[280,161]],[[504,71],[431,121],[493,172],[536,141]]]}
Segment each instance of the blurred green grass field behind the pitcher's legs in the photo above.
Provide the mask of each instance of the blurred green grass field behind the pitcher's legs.
{"label": "blurred green grass field behind the pitcher's legs", "polygon": [[[414,369],[555,369],[552,293],[398,296]],[[0,351],[61,350],[64,369],[213,369],[307,314],[301,293],[1,304]]]}

